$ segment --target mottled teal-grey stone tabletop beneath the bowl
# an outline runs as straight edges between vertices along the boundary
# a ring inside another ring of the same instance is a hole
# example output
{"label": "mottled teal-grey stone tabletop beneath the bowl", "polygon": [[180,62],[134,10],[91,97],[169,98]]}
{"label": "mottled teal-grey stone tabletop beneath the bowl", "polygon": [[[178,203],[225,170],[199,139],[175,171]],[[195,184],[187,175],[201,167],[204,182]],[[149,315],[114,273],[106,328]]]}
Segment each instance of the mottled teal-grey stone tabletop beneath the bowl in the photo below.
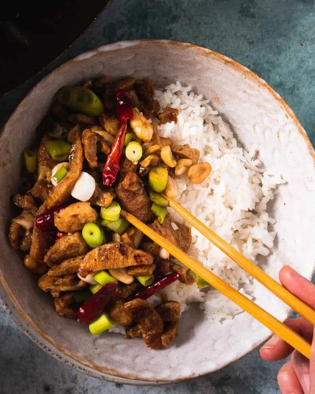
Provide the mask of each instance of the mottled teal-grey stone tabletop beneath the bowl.
{"label": "mottled teal-grey stone tabletop beneath the bowl", "polygon": [[[206,46],[256,72],[287,101],[314,144],[314,17],[314,0],[112,0],[69,50],[0,98],[0,123],[37,81],[77,54],[124,39],[164,38]],[[3,394],[280,393],[276,374],[282,362],[264,362],[258,351],[208,377],[172,386],[128,387],[104,383],[59,364],[30,342],[2,309],[0,335]]]}

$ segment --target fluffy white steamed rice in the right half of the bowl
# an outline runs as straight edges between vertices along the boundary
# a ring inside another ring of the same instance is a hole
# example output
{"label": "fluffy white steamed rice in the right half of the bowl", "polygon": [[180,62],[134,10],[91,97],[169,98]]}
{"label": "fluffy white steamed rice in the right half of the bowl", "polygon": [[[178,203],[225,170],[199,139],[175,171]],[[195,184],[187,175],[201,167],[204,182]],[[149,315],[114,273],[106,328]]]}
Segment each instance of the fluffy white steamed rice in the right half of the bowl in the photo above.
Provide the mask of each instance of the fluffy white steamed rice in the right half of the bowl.
{"label": "fluffy white steamed rice in the right half of the bowl", "polygon": [[[157,126],[159,135],[171,138],[174,145],[188,143],[198,149],[199,161],[209,162],[212,167],[201,184],[190,183],[187,175],[176,177],[180,190],[177,201],[250,260],[255,261],[258,255],[267,256],[275,237],[269,224],[275,220],[269,217],[266,206],[284,180],[279,174],[263,169],[254,150],[246,152],[237,146],[230,126],[211,108],[209,100],[191,91],[191,86],[183,87],[176,82],[164,91],[157,90],[156,99],[161,109],[168,105],[179,110],[177,124]],[[183,223],[182,217],[168,209],[174,220]],[[176,230],[175,223],[173,228]],[[191,232],[188,254],[251,298],[250,275],[197,230],[192,228]],[[213,320],[232,319],[241,312],[217,290],[201,291],[195,283],[187,286],[176,281],[163,292],[169,300],[180,301],[181,312],[191,302],[200,303],[200,308]],[[159,293],[148,301],[158,303]],[[115,325],[110,331],[124,329]]]}

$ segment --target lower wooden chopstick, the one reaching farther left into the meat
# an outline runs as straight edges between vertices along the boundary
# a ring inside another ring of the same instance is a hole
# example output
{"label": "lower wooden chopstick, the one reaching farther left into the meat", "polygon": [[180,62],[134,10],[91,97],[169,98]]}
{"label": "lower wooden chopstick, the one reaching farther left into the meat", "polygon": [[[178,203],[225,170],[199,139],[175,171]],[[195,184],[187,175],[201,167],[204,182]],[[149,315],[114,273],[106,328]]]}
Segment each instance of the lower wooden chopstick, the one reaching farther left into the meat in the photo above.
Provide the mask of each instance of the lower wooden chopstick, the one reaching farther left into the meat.
{"label": "lower wooden chopstick, the one reaching farther left into the meat", "polygon": [[200,275],[205,281],[211,284],[214,288],[219,290],[224,296],[228,297],[231,301],[237,304],[242,309],[246,310],[256,320],[263,323],[272,332],[282,338],[285,342],[291,345],[293,348],[298,350],[305,357],[310,358],[311,345],[295,331],[291,330],[284,323],[274,318],[270,313],[256,305],[247,297],[243,296],[240,292],[235,290],[232,286],[222,281],[217,275],[209,271],[206,267],[202,266],[199,262],[189,257],[180,250],[178,247],[167,241],[165,238],[160,236],[157,232],[150,229],[147,225],[142,223],[133,215],[129,214],[125,210],[120,211],[120,215],[127,219],[133,224],[138,230],[143,232],[146,236],[151,238],[154,242],[158,243],[161,247],[166,249],[171,255],[177,258],[185,266],[192,269],[197,275]]}

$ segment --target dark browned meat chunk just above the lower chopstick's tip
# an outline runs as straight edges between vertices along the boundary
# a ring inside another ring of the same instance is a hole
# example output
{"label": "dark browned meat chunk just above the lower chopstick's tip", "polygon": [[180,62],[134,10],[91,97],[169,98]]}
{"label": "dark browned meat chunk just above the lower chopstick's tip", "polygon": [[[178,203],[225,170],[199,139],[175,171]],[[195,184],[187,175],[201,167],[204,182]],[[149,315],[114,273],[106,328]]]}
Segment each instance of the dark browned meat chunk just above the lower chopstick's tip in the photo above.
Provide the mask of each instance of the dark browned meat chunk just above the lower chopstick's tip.
{"label": "dark browned meat chunk just above the lower chopstick's tip", "polygon": [[142,180],[136,175],[137,179],[139,179],[137,183],[141,187],[141,189],[137,192],[127,190],[124,188],[124,186],[122,186],[123,183],[128,183],[127,181],[125,182],[125,179],[128,180],[134,178],[134,175],[132,174],[134,173],[127,173],[124,180],[122,182],[118,182],[115,187],[115,191],[124,209],[137,217],[137,219],[145,222],[152,219],[153,212],[151,211],[151,201],[146,194]]}

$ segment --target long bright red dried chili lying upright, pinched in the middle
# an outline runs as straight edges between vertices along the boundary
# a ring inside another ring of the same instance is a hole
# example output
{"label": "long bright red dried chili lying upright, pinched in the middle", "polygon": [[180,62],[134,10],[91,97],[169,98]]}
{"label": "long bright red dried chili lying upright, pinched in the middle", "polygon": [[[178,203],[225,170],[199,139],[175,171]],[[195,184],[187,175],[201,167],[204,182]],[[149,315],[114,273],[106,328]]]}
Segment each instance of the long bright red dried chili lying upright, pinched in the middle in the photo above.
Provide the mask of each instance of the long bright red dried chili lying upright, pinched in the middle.
{"label": "long bright red dried chili lying upright, pinched in the middle", "polygon": [[119,117],[120,130],[111,146],[111,152],[107,156],[106,164],[103,169],[103,184],[112,186],[119,171],[122,149],[124,149],[127,119],[132,118],[132,102],[126,89],[120,89],[116,94],[116,112]]}

